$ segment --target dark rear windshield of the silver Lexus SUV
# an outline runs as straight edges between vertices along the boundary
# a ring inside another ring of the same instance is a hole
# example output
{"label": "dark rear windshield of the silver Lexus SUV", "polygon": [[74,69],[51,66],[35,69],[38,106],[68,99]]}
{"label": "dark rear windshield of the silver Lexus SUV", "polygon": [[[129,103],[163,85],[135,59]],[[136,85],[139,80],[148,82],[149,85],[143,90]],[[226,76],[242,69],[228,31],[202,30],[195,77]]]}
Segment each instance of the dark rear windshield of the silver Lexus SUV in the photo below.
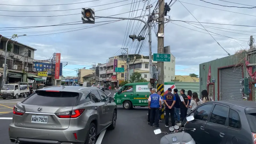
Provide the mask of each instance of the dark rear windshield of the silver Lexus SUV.
{"label": "dark rear windshield of the silver Lexus SUV", "polygon": [[46,92],[36,91],[22,103],[28,105],[71,107],[75,106],[82,93],[78,92]]}

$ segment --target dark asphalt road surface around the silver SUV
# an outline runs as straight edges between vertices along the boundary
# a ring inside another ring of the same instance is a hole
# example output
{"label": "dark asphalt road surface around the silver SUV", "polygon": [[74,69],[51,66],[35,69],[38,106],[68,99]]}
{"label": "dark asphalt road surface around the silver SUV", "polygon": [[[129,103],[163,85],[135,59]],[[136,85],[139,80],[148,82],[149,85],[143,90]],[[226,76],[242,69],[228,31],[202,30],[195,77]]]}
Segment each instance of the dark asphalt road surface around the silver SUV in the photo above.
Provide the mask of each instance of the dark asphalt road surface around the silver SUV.
{"label": "dark asphalt road surface around the silver SUV", "polygon": [[[108,96],[113,96],[116,91],[106,90],[105,93]],[[8,100],[6,102],[17,102],[24,99],[17,100]],[[3,101],[0,100],[0,104],[3,105]],[[16,103],[15,103],[16,104]],[[8,111],[12,111],[13,105],[10,105],[10,108],[7,108]],[[0,105],[0,106],[1,106]],[[9,104],[8,104],[9,105]],[[3,107],[7,106],[7,103]],[[6,113],[7,113],[6,112]],[[155,135],[155,127],[148,125],[148,109],[136,107],[132,110],[124,110],[122,106],[118,106],[117,109],[117,122],[116,128],[112,131],[103,131],[96,144],[113,144],[113,143],[122,143],[122,144],[131,144],[131,143],[152,143],[159,144],[160,139],[164,136],[164,133]],[[6,119],[9,118],[9,119]],[[8,135],[8,126],[12,121],[12,112],[7,114],[0,115],[0,143],[2,144],[12,144],[9,140]],[[159,128],[164,132],[168,132],[168,128],[164,127],[164,121],[159,123]]]}

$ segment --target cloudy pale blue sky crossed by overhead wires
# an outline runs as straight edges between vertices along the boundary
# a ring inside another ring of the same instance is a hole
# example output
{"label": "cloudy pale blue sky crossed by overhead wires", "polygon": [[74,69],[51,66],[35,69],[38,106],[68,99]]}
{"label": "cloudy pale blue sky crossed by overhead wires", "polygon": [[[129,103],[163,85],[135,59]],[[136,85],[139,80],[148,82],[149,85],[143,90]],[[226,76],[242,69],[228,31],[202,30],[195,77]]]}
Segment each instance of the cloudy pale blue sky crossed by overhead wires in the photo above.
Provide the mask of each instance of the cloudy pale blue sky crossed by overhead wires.
{"label": "cloudy pale blue sky crossed by overhead wires", "polygon": [[[167,4],[170,1],[165,0]],[[105,63],[109,57],[124,52],[121,48],[128,47],[129,54],[146,56],[149,53],[147,31],[142,32],[146,37],[144,42],[132,42],[128,37],[132,34],[138,36],[144,26],[141,22],[96,18],[95,24],[83,24],[81,8],[94,8],[95,16],[115,15],[147,20],[146,6],[150,4],[153,5],[152,12],[157,0],[2,0],[0,35],[26,34],[16,41],[37,49],[36,60],[49,59],[54,52],[61,53],[60,61],[68,62],[63,68],[63,75],[76,76],[75,68]],[[250,36],[256,33],[256,11],[254,8],[237,7],[255,5],[253,0],[173,0],[171,10],[165,16],[164,46],[170,45],[171,53],[176,57],[175,75],[198,75],[200,63],[248,48]],[[62,26],[56,26],[60,24]],[[157,52],[156,24],[154,21],[151,30],[152,53]]]}

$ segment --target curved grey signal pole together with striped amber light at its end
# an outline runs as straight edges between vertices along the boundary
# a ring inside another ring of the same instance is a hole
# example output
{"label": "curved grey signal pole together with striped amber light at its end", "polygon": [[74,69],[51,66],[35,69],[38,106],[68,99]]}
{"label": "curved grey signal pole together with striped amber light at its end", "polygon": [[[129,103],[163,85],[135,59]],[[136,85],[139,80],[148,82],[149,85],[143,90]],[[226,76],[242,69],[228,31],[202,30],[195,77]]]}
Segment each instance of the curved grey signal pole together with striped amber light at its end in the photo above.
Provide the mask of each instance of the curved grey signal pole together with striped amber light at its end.
{"label": "curved grey signal pole together with striped amber light at its end", "polygon": [[[108,19],[120,19],[120,20],[139,20],[143,22],[146,27],[148,28],[148,49],[149,49],[149,56],[151,54],[151,29],[148,25],[148,23],[144,20],[138,19],[138,18],[122,18],[122,17],[104,17],[104,16],[95,16],[94,9],[92,8],[82,8],[82,20],[83,23],[88,23],[88,24],[94,24],[95,23],[95,18],[108,18]],[[152,58],[149,57],[149,78],[152,78]]]}

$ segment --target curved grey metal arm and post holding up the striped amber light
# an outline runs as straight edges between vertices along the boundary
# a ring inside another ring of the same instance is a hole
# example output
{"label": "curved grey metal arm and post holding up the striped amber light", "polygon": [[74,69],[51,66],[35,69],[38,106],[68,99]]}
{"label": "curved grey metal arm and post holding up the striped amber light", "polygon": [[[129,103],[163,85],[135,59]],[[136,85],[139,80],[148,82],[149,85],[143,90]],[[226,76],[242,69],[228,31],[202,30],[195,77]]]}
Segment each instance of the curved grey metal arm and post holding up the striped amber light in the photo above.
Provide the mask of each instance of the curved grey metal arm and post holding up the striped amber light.
{"label": "curved grey metal arm and post holding up the striped amber light", "polygon": [[[148,28],[148,50],[149,50],[149,78],[152,78],[152,52],[151,52],[151,29],[148,23],[144,20],[137,19],[137,18],[118,18],[118,17],[103,17],[103,16],[95,16],[95,18],[108,18],[108,19],[120,19],[120,20],[139,20],[145,24]],[[143,27],[144,28],[144,27]]]}

